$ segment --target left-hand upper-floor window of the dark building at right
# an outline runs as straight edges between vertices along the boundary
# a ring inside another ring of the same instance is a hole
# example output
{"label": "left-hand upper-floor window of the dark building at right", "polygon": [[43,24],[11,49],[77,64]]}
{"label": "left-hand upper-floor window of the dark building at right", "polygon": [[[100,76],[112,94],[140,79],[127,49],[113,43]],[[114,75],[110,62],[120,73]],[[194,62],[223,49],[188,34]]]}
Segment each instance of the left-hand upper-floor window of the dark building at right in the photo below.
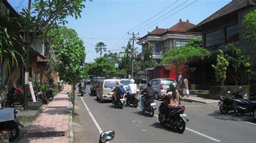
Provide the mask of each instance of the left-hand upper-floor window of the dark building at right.
{"label": "left-hand upper-floor window of the dark building at right", "polygon": [[221,44],[220,30],[213,31],[205,35],[206,47]]}

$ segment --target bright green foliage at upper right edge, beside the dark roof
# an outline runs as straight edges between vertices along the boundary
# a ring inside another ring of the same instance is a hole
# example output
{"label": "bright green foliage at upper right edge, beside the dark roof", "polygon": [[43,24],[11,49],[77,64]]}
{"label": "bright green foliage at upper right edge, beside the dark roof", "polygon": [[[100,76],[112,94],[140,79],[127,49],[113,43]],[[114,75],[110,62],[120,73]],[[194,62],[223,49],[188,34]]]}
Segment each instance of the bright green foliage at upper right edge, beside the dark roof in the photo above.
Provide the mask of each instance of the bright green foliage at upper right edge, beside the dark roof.
{"label": "bright green foliage at upper right edge, beside the dark roof", "polygon": [[245,41],[255,40],[256,37],[256,10],[247,13],[243,21],[246,24],[246,33],[243,35]]}

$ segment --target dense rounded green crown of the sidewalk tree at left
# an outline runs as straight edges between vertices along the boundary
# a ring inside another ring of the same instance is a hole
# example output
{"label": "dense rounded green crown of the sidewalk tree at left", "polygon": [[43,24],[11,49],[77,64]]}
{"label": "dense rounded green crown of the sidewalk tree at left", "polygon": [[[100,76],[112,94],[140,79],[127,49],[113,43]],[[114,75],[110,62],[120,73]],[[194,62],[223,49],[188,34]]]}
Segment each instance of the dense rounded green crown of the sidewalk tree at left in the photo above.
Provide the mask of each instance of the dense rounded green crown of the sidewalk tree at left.
{"label": "dense rounded green crown of the sidewalk tree at left", "polygon": [[55,70],[59,73],[60,80],[73,84],[85,78],[83,74],[85,47],[75,30],[61,27],[59,32],[62,34],[55,43],[55,54],[59,59]]}

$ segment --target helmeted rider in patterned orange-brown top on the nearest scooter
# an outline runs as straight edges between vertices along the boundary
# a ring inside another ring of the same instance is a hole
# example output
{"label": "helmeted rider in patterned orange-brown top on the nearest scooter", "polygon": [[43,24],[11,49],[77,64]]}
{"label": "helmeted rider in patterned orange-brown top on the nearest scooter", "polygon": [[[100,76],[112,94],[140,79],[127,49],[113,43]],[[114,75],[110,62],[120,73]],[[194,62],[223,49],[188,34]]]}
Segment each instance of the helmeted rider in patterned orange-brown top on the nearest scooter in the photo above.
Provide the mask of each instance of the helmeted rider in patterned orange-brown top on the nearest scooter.
{"label": "helmeted rider in patterned orange-brown top on the nearest scooter", "polygon": [[179,92],[177,90],[176,82],[173,82],[169,86],[169,92],[163,98],[159,99],[159,101],[163,101],[164,105],[159,107],[159,112],[163,117],[161,123],[165,121],[166,115],[168,115],[169,111],[177,108],[180,105]]}

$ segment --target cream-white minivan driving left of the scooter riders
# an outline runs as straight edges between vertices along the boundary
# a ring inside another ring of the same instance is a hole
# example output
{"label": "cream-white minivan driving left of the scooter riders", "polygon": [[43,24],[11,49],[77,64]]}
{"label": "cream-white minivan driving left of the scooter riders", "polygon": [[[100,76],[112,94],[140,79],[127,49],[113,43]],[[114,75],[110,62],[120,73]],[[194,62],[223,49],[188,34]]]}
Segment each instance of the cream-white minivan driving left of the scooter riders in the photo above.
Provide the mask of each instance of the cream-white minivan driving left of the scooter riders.
{"label": "cream-white minivan driving left of the scooter riders", "polygon": [[97,90],[96,98],[100,99],[100,102],[111,101],[114,88],[117,86],[118,79],[102,80],[99,82],[99,88]]}

